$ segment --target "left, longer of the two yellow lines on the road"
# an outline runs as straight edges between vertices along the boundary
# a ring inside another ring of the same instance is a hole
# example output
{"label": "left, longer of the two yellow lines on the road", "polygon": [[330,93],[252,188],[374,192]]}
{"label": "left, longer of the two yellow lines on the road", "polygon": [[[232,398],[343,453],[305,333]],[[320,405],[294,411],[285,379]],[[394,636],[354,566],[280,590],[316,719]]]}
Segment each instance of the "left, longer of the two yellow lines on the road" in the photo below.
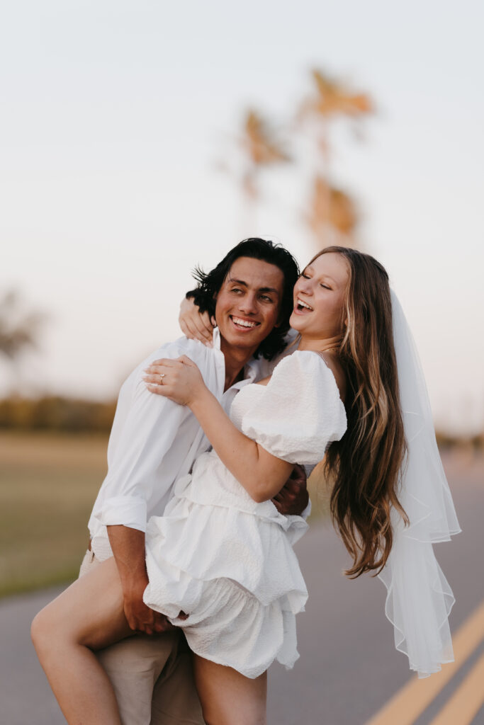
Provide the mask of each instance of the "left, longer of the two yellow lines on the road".
{"label": "left, longer of the two yellow lines on the road", "polygon": [[[425,679],[417,676],[404,685],[366,725],[412,725],[441,689],[456,674],[484,637],[484,602],[454,636],[455,662]],[[460,721],[457,721],[460,724]]]}

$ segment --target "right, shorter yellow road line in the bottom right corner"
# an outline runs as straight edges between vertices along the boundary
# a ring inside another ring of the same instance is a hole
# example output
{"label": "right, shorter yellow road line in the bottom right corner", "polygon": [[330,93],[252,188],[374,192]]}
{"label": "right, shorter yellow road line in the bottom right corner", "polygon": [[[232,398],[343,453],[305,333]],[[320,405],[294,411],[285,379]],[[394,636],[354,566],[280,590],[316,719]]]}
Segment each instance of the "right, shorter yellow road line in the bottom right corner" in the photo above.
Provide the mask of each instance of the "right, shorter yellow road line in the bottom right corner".
{"label": "right, shorter yellow road line in the bottom right corner", "polygon": [[430,725],[470,725],[484,703],[484,655]]}

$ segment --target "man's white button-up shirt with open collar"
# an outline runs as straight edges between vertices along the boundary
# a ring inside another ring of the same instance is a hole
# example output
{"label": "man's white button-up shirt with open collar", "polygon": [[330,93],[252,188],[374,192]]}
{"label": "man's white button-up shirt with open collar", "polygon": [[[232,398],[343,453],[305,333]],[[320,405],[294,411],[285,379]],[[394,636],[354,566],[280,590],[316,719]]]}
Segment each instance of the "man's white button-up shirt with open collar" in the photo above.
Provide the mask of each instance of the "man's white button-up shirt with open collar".
{"label": "man's white button-up shirt with open collar", "polygon": [[274,368],[274,363],[251,359],[245,378],[223,392],[225,358],[218,328],[213,331],[213,347],[181,337],[138,365],[120,389],[107,448],[107,476],[89,519],[93,550],[100,559],[110,555],[106,526],[123,524],[146,531],[150,516],[163,515],[176,479],[189,473],[197,456],[210,448],[189,407],[150,393],[143,380],[152,360],[180,355],[197,363],[205,385],[226,413],[242,386],[270,375]]}

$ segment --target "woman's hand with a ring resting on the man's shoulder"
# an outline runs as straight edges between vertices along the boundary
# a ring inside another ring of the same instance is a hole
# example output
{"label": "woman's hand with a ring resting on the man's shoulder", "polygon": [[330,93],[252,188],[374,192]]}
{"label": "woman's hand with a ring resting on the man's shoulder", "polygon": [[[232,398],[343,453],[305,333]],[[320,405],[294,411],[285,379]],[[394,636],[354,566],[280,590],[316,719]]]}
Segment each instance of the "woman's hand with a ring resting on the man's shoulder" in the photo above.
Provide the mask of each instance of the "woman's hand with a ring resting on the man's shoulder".
{"label": "woman's hand with a ring resting on the man's shoulder", "polygon": [[170,398],[179,405],[192,405],[206,386],[197,365],[186,355],[176,360],[161,358],[145,368],[143,380],[149,392]]}

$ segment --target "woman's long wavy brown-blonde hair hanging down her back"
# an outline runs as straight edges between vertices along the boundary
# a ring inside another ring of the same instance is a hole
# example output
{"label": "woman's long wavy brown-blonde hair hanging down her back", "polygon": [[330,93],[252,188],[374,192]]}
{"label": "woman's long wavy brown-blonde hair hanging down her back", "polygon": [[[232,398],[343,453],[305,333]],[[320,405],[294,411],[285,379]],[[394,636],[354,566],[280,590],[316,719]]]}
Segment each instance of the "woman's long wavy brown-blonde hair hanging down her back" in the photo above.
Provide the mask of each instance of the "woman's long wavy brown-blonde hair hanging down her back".
{"label": "woman's long wavy brown-blonde hair hanging down her back", "polygon": [[345,573],[356,579],[385,566],[393,543],[390,510],[408,523],[397,495],[406,440],[387,272],[374,257],[346,247],[326,247],[311,262],[327,252],[342,254],[350,268],[340,346],[348,429],[329,447],[324,468],[332,481],[332,520],[353,557]]}

